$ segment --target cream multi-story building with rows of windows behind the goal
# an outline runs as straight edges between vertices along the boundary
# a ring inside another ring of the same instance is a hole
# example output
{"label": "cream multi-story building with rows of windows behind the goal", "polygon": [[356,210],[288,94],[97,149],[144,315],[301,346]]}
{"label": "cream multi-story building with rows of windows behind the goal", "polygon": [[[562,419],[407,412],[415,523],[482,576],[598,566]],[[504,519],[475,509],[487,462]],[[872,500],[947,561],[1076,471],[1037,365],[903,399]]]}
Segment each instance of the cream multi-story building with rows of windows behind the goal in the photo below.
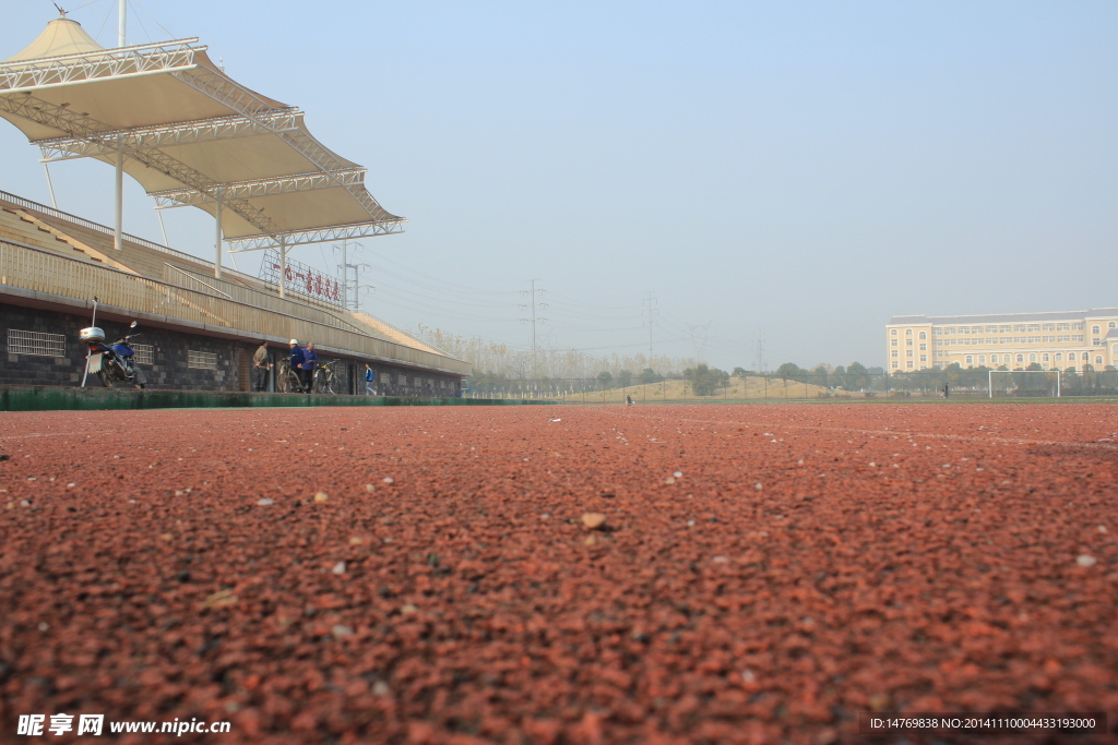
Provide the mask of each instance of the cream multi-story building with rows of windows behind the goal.
{"label": "cream multi-story building with rows of windows behind the goal", "polygon": [[893,316],[885,324],[885,369],[1105,370],[1118,361],[1118,308],[982,316]]}

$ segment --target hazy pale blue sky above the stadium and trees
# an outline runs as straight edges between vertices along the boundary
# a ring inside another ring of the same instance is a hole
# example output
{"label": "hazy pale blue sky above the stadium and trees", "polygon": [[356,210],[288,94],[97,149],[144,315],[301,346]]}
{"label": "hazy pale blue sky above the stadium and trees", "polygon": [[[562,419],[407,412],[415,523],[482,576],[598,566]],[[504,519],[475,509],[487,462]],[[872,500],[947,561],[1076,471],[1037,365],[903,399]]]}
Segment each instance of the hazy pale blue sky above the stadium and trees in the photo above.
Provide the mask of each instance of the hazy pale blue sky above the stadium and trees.
{"label": "hazy pale blue sky above the stadium and trees", "polygon": [[[115,0],[83,2],[63,7],[115,46]],[[6,4],[0,58],[57,15]],[[200,37],[369,169],[410,220],[361,258],[367,306],[399,326],[527,348],[536,278],[541,345],[646,351],[652,293],[657,354],[693,355],[710,324],[707,361],[752,367],[761,328],[771,369],[881,365],[894,314],[1118,305],[1118,3],[132,7],[130,42],[169,38],[155,21]],[[0,189],[49,203],[37,149],[0,125]],[[51,175],[59,208],[111,222],[110,166]],[[134,182],[125,210],[161,239]],[[212,257],[211,218],[165,217]]]}

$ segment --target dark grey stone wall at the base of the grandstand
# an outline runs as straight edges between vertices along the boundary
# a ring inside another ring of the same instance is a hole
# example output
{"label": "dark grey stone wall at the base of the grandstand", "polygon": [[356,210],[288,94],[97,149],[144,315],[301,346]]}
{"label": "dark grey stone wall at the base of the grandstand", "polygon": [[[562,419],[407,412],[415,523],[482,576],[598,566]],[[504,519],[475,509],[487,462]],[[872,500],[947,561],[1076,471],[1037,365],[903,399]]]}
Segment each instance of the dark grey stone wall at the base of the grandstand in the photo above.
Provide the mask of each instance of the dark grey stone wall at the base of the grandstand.
{"label": "dark grey stone wall at the base of the grandstand", "polygon": [[[80,385],[86,347],[78,340],[78,334],[89,325],[89,316],[85,315],[0,304],[0,384]],[[97,325],[105,331],[105,338],[108,341],[129,333],[125,323],[98,318]],[[61,334],[65,336],[65,354],[42,356],[13,353],[9,348],[10,329]],[[135,331],[140,333],[135,343],[153,347],[152,363],[140,365],[148,378],[148,388],[227,392],[249,390],[248,372],[256,343],[142,325]],[[190,355],[190,352],[201,354]],[[273,361],[277,362],[287,355],[287,348],[276,345],[271,348],[271,354]],[[192,366],[191,356],[196,357],[196,364],[212,361],[215,366]],[[326,353],[320,353],[319,357],[321,362],[334,359]],[[379,362],[372,364],[377,372],[375,388],[380,395],[461,395],[461,382],[456,375]],[[340,359],[335,370],[339,376],[338,393],[364,393],[362,361]],[[101,385],[101,382],[95,375],[91,375],[86,385]],[[125,383],[117,382],[116,385],[124,386]]]}

